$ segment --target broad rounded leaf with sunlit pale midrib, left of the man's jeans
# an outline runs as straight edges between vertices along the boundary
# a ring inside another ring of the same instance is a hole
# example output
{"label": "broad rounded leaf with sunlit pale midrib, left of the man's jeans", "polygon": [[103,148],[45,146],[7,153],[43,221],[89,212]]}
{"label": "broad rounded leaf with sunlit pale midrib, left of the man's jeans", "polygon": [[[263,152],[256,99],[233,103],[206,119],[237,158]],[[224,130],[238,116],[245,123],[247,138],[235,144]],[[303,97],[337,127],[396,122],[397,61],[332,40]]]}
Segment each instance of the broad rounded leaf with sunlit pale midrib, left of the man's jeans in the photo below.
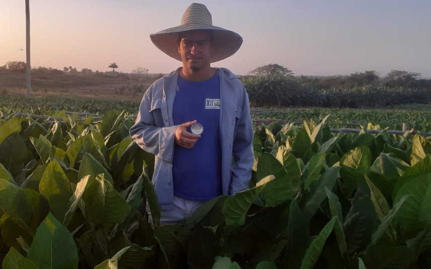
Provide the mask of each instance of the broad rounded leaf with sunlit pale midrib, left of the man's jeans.
{"label": "broad rounded leaf with sunlit pale midrib, left of the man's jeans", "polygon": [[103,225],[122,223],[130,212],[126,200],[104,174],[89,177],[79,206],[85,218]]}

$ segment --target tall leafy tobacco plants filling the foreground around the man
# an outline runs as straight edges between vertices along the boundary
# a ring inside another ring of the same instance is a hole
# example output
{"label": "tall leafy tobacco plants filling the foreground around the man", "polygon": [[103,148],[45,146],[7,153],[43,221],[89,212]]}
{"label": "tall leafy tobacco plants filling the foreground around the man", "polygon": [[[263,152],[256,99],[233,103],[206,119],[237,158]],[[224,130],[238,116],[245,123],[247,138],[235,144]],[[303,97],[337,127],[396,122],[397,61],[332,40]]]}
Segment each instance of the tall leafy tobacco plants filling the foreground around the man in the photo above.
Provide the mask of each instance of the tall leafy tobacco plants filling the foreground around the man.
{"label": "tall leafy tobacco plants filling the foreground around the man", "polygon": [[55,116],[0,115],[5,269],[431,267],[429,137],[262,126],[249,189],[170,226],[124,111]]}

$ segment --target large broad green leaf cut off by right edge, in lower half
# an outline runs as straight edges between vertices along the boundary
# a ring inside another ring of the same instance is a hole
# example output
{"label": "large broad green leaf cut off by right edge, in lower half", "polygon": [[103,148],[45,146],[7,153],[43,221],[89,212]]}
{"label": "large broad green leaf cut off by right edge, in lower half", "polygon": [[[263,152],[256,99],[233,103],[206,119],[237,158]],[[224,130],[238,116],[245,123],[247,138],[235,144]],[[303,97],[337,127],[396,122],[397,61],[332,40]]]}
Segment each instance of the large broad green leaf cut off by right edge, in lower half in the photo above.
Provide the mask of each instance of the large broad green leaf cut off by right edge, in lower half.
{"label": "large broad green leaf cut off by right edge, in lower half", "polygon": [[431,173],[417,176],[404,184],[396,194],[394,203],[401,201],[405,195],[412,197],[396,216],[401,227],[407,231],[417,231],[431,224]]}

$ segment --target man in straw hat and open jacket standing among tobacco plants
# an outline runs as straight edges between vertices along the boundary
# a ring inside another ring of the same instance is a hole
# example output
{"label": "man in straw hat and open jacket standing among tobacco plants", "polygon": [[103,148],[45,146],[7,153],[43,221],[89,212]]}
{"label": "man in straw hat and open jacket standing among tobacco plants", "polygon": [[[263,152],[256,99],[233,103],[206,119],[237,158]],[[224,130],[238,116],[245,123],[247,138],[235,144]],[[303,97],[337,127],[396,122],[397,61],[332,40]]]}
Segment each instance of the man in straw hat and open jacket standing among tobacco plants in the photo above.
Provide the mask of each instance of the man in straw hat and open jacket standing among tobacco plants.
{"label": "man in straw hat and open jacket standing among tobacco plants", "polygon": [[[160,224],[182,225],[205,201],[248,188],[253,164],[248,95],[232,72],[210,65],[234,54],[242,38],[213,26],[207,8],[195,3],[180,26],[150,38],[183,67],[147,89],[130,135],[155,155],[152,183]],[[191,132],[196,123],[203,126],[200,135]]]}

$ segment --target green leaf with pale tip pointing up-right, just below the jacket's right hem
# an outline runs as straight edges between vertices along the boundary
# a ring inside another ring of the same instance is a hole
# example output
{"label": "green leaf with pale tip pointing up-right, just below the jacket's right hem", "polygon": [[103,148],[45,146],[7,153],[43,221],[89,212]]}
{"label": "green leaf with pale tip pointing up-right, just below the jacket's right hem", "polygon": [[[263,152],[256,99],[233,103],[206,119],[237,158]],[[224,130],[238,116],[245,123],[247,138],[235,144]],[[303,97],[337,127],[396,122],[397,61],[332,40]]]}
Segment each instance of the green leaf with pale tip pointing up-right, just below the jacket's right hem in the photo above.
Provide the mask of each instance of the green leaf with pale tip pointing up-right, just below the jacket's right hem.
{"label": "green leaf with pale tip pointing up-right, just below the jacket's right hem", "polygon": [[[234,196],[228,196],[223,204],[223,215],[227,226],[243,225],[245,222],[245,213],[257,196],[264,190],[272,178],[268,177],[265,183],[258,183],[254,188],[238,192]],[[263,180],[262,180],[263,181]]]}

